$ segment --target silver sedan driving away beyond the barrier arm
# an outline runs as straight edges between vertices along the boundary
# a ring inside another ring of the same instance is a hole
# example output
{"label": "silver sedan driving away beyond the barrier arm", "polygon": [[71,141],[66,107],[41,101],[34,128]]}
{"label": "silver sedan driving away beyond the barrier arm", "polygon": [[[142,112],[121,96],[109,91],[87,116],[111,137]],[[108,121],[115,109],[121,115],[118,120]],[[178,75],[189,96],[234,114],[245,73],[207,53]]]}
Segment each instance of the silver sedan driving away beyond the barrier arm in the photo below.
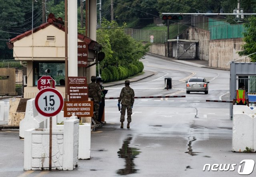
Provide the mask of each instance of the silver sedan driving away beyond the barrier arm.
{"label": "silver sedan driving away beyond the barrier arm", "polygon": [[208,94],[208,83],[204,77],[191,77],[186,81],[187,94],[190,92],[204,92]]}

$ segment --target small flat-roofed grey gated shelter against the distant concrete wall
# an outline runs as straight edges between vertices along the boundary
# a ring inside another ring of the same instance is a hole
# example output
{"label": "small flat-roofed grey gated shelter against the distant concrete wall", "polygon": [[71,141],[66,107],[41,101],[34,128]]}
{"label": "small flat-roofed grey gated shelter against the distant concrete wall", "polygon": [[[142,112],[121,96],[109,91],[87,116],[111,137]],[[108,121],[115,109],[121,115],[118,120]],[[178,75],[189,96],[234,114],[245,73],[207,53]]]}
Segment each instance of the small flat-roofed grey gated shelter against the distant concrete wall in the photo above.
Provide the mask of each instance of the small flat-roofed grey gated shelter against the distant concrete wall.
{"label": "small flat-roofed grey gated shelter against the distant concrete wall", "polygon": [[195,59],[196,58],[196,40],[169,39],[171,42],[170,54],[176,59]]}

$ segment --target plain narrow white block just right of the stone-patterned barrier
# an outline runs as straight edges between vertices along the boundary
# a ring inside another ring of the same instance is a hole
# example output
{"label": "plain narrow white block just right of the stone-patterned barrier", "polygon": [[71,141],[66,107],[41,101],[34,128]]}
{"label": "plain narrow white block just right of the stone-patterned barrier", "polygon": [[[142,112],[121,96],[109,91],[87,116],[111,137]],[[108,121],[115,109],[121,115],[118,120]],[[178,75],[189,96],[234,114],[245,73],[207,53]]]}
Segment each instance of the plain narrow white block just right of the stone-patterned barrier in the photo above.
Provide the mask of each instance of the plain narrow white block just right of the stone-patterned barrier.
{"label": "plain narrow white block just right of the stone-patterned barrier", "polygon": [[91,124],[79,125],[78,159],[91,157]]}

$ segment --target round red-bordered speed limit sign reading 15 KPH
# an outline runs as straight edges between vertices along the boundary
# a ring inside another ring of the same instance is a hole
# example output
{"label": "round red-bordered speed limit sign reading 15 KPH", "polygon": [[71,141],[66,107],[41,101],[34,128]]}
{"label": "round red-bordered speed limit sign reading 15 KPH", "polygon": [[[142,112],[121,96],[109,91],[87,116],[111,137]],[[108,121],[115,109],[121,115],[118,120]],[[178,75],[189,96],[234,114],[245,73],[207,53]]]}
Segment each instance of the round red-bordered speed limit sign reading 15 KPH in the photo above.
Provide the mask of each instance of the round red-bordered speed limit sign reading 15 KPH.
{"label": "round red-bordered speed limit sign reading 15 KPH", "polygon": [[44,88],[35,98],[36,110],[46,117],[56,116],[63,108],[63,98],[55,88]]}

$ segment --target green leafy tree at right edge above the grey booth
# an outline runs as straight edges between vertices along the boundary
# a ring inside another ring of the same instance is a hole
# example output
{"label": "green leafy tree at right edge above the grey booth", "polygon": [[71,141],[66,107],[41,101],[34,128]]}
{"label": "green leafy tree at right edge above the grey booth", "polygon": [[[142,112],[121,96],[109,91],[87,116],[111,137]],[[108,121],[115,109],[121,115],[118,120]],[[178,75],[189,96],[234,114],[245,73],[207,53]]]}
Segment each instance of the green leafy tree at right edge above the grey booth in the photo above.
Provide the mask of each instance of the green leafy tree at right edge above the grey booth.
{"label": "green leafy tree at right edge above the grey booth", "polygon": [[[252,16],[248,19],[248,23],[244,24],[246,32],[244,32],[244,42],[242,45],[243,51],[239,51],[239,56],[246,56],[256,53],[256,17]],[[256,54],[250,55],[251,62],[256,62]]]}

